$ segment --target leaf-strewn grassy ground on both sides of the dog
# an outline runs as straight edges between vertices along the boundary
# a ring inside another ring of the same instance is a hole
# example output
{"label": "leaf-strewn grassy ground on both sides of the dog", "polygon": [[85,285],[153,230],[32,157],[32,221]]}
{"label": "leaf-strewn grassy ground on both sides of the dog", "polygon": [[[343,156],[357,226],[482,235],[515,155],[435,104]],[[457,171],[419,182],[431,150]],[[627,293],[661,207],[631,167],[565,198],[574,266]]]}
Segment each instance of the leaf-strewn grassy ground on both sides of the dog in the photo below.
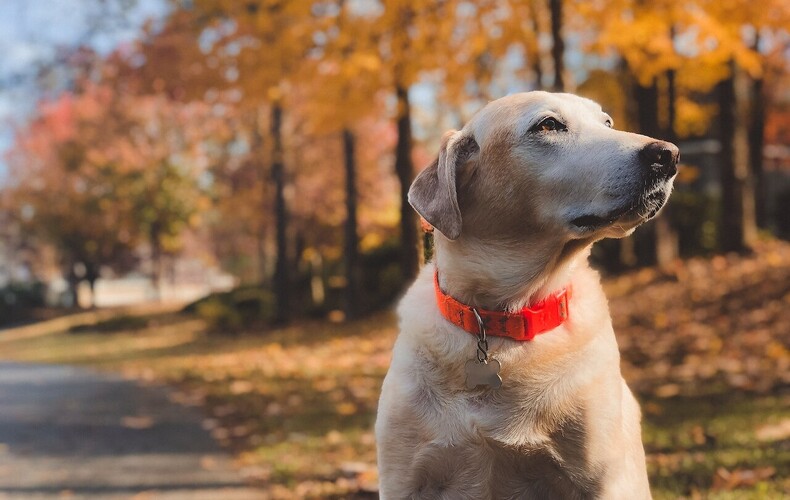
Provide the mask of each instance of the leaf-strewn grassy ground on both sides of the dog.
{"label": "leaf-strewn grassy ground on both sides of the dog", "polygon": [[[642,403],[654,496],[790,495],[790,244],[636,270],[604,287]],[[204,427],[271,498],[375,498],[372,429],[395,323],[382,312],[222,338],[185,319],[12,335],[0,347],[175,385],[173,397],[205,408]]]}

